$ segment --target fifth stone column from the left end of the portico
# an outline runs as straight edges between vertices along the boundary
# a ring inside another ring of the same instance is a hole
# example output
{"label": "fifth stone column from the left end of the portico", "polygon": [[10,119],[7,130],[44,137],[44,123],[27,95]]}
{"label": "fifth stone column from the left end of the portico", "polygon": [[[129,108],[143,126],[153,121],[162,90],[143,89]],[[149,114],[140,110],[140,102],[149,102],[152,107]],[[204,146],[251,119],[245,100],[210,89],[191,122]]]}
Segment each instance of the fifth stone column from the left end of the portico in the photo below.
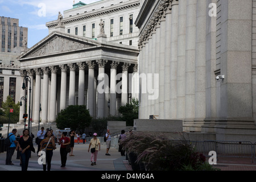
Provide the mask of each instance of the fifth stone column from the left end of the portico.
{"label": "fifth stone column from the left end of the portico", "polygon": [[51,98],[49,122],[55,122],[56,119],[56,92],[57,92],[57,67],[51,66]]}

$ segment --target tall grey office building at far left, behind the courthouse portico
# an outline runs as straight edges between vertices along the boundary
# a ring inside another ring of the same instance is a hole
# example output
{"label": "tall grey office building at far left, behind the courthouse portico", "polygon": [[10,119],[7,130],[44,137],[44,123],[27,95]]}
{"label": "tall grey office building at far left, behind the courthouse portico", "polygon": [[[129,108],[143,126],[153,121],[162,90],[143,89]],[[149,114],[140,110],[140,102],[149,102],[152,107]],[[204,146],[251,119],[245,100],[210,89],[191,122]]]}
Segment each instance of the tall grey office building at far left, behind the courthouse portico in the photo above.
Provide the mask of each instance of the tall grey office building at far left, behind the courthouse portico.
{"label": "tall grey office building at far left, behind the courthouse portico", "polygon": [[[7,96],[20,100],[20,63],[16,59],[26,47],[28,28],[19,27],[19,19],[1,16],[0,23],[0,107]],[[16,89],[18,88],[18,89]]]}

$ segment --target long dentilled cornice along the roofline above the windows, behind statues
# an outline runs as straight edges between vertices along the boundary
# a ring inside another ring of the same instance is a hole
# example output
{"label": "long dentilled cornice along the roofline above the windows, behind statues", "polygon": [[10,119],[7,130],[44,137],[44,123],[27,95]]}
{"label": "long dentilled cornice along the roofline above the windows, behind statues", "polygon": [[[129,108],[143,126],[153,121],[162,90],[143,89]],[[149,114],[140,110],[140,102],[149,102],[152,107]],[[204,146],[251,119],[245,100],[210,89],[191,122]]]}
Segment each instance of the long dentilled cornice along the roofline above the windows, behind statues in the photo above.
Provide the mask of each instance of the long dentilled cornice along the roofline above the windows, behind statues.
{"label": "long dentilled cornice along the roofline above the windows, behind statues", "polygon": [[[69,17],[63,19],[63,23],[64,23],[64,25],[67,25],[69,23],[80,22],[80,21],[83,21],[86,19],[96,18],[98,16],[109,15],[109,14],[117,13],[119,11],[133,9],[135,7],[139,7],[139,5],[140,5],[139,1],[136,1],[136,2],[125,3],[125,5],[121,4],[121,5],[106,7],[103,10],[94,10],[94,11],[90,11],[88,13],[83,13],[83,14],[79,14],[79,15],[75,15],[75,16],[69,16]],[[57,20],[47,22],[46,26],[48,28],[56,27]]]}

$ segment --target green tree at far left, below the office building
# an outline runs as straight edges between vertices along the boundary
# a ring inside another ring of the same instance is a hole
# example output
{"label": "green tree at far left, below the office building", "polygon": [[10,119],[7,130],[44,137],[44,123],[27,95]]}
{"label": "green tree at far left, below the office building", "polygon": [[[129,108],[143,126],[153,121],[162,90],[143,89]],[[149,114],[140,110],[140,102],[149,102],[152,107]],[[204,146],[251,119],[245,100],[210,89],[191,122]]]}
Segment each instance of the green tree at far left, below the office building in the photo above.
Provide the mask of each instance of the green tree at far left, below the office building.
{"label": "green tree at far left, below the office building", "polygon": [[[10,123],[19,122],[19,102],[15,104],[11,96],[7,96],[6,101],[2,103],[2,110],[0,111],[1,123],[9,122],[10,114]],[[13,113],[10,113],[10,109],[13,109]]]}

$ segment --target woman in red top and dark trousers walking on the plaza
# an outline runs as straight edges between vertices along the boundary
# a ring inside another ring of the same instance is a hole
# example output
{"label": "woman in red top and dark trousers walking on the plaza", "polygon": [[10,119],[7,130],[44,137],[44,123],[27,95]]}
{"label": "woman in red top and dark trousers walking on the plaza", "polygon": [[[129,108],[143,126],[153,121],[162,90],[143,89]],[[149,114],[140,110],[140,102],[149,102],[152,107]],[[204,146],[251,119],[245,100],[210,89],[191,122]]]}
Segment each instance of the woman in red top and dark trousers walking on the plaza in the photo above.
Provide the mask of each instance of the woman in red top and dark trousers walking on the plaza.
{"label": "woman in red top and dark trousers walking on the plaza", "polygon": [[70,144],[70,139],[67,137],[67,132],[63,132],[61,135],[61,138],[59,140],[60,144],[60,160],[61,160],[61,166],[65,167],[67,162],[67,145]]}

